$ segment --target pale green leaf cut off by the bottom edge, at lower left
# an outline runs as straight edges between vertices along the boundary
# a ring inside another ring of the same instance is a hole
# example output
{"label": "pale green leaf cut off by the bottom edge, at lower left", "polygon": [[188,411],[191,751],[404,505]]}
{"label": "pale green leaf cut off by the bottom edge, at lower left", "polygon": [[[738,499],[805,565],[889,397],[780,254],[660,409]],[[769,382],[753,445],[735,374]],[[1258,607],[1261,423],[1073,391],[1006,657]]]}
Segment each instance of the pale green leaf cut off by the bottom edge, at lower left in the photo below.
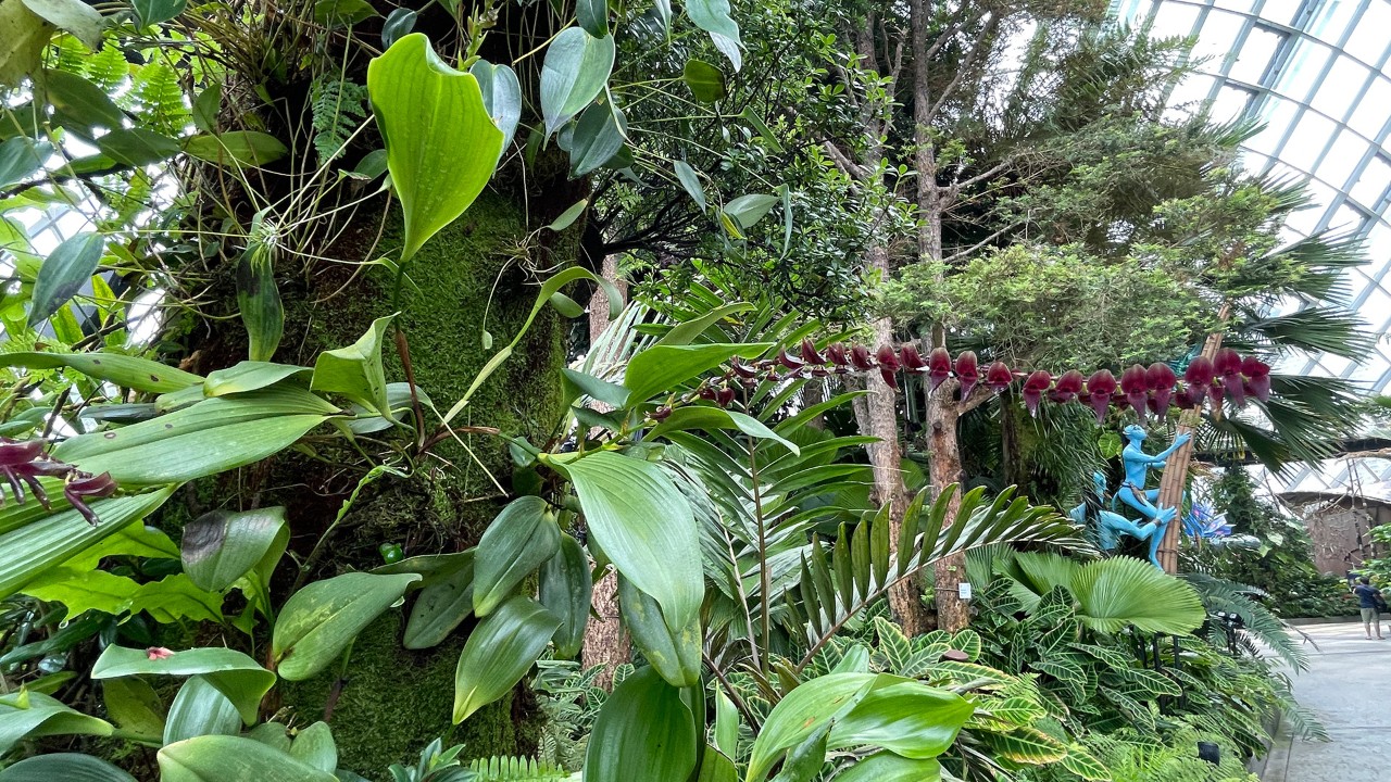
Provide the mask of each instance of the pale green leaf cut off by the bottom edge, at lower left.
{"label": "pale green leaf cut off by the bottom edge, at lower left", "polygon": [[160,782],[338,782],[288,753],[243,736],[198,736],[160,750]]}

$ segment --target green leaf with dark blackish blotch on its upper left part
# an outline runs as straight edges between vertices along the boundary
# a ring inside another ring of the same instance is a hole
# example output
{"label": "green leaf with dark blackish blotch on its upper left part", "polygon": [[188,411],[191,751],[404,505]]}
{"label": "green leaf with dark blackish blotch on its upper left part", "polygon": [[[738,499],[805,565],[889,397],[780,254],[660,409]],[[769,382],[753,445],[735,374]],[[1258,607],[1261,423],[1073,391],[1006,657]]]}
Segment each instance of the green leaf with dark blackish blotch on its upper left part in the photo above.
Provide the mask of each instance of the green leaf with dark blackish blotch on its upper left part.
{"label": "green leaf with dark blackish blotch on its upper left part", "polygon": [[285,525],[280,506],[203,513],[184,526],[184,572],[199,587],[223,591],[262,561]]}

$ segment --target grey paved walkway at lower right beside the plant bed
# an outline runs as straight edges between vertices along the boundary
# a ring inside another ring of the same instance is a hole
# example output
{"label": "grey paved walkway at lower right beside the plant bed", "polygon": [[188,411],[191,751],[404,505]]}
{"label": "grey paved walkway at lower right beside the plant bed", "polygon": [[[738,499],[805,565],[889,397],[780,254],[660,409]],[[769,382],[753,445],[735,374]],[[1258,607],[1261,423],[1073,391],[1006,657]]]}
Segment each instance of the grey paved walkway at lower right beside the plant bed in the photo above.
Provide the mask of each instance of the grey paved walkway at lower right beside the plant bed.
{"label": "grey paved walkway at lower right beside the plant bed", "polygon": [[1301,628],[1319,644],[1309,671],[1294,676],[1299,703],[1314,710],[1331,742],[1281,736],[1262,782],[1376,782],[1391,779],[1391,626],[1366,640],[1362,623]]}

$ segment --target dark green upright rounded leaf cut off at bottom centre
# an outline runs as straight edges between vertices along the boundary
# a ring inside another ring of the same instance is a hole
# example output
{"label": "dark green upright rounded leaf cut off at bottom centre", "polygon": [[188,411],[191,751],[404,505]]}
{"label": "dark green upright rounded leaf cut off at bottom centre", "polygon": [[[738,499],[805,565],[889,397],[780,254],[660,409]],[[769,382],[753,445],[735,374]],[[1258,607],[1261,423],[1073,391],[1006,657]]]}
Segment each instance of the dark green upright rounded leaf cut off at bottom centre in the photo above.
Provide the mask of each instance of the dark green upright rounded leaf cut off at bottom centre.
{"label": "dark green upright rounded leaf cut off at bottom centre", "polygon": [[643,668],[613,687],[600,708],[583,781],[686,779],[696,769],[696,722],[682,692]]}

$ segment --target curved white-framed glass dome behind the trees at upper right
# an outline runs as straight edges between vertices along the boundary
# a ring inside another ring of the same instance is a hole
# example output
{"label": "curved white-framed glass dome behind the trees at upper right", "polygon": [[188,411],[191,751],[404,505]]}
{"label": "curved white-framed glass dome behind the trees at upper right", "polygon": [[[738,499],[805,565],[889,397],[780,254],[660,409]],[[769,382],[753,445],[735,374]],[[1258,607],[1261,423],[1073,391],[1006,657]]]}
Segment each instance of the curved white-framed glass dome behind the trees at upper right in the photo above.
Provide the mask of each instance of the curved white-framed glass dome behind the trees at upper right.
{"label": "curved white-framed glass dome behind the trees at upper right", "polygon": [[[1200,65],[1174,90],[1173,111],[1207,106],[1216,120],[1264,124],[1246,143],[1246,167],[1305,179],[1313,196],[1287,224],[1291,238],[1366,238],[1370,263],[1348,273],[1348,289],[1380,337],[1376,349],[1358,362],[1321,355],[1284,369],[1391,390],[1391,0],[1117,0],[1113,10],[1152,35],[1196,39]],[[1358,479],[1391,479],[1391,461],[1331,462],[1278,488]]]}

